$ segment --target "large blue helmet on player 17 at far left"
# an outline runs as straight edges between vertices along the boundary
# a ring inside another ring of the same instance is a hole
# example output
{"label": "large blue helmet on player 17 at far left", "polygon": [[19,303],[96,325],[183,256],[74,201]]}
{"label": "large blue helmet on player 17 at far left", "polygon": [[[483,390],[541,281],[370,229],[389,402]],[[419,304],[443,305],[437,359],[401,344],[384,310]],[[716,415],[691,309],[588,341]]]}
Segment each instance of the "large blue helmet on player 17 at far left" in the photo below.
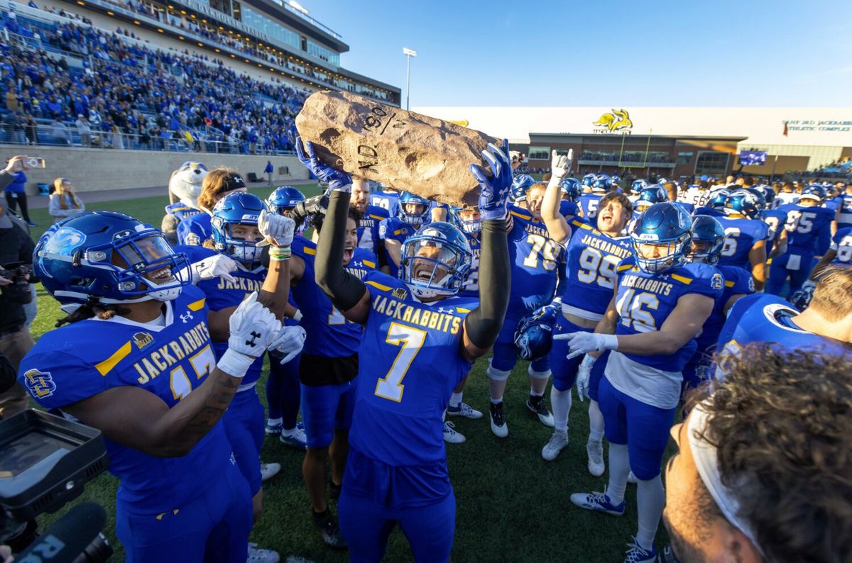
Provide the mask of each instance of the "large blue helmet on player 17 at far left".
{"label": "large blue helmet on player 17 at far left", "polygon": [[92,301],[170,301],[192,281],[186,254],[175,253],[161,230],[112,211],[51,226],[38,239],[32,265],[66,312]]}

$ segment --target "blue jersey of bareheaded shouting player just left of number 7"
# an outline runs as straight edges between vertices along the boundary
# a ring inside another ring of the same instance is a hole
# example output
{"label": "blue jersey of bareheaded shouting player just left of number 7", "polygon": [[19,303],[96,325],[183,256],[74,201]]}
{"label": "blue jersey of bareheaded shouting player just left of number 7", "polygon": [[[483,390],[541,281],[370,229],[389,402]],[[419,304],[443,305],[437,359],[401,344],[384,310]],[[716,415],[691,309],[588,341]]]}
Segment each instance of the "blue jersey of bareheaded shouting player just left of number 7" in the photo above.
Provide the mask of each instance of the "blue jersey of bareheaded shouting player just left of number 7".
{"label": "blue jersey of bareheaded shouting player just left of number 7", "polygon": [[[293,239],[292,253],[305,263],[302,279],[291,287],[293,299],[302,311],[299,324],[305,329],[307,337],[302,352],[329,358],[342,358],[358,351],[361,338],[361,326],[348,321],[332,304],[314,278],[314,259],[317,247],[314,242],[302,236]],[[375,270],[376,257],[363,248],[355,248],[352,260],[346,270],[363,278],[368,270]]]}

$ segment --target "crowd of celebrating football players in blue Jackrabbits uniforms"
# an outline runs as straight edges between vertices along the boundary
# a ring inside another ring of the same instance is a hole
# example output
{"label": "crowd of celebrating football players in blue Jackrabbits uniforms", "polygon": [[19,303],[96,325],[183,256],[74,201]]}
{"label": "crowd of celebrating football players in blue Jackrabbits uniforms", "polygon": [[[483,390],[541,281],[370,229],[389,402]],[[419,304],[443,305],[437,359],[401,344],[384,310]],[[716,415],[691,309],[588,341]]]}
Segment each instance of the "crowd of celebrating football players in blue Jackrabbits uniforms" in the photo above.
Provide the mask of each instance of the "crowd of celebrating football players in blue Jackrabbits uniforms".
{"label": "crowd of celebrating football players in blue Jackrabbits uniforms", "polygon": [[545,460],[569,443],[576,386],[587,469],[608,483],[571,501],[623,515],[635,483],[625,561],[665,560],[662,462],[689,391],[723,381],[753,342],[849,354],[825,319],[852,309],[852,186],[621,186],[571,177],[556,151],[536,181],[504,141],[470,167],[478,205],[453,208],[297,150],[322,196],[283,186],[262,201],[232,169],[187,162],[162,230],[90,212],[37,242],[37,276],[67,316],[20,383],[103,432],[127,560],[279,560],[248,542],[280,469],[262,463],[264,435],[304,450],[330,548],[382,560],[399,525],[415,560],[449,560],[445,444],[465,441],[451,418],[483,418],[463,390],[485,355],[499,438],[510,373],[528,362]]}

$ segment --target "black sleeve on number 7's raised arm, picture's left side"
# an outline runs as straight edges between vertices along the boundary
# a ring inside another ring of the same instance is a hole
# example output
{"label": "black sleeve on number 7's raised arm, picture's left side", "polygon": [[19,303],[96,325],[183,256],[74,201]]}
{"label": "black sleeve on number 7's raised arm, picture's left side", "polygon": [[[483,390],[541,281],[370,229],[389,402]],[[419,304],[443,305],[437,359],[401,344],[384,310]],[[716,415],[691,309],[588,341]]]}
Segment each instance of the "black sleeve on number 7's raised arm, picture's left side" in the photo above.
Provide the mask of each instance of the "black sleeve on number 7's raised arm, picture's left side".
{"label": "black sleeve on number 7's raised arm, picture's left side", "polygon": [[349,194],[332,191],[314,261],[317,284],[329,296],[331,303],[342,311],[358,304],[367,290],[364,283],[344,270],[342,265],[348,213]]}

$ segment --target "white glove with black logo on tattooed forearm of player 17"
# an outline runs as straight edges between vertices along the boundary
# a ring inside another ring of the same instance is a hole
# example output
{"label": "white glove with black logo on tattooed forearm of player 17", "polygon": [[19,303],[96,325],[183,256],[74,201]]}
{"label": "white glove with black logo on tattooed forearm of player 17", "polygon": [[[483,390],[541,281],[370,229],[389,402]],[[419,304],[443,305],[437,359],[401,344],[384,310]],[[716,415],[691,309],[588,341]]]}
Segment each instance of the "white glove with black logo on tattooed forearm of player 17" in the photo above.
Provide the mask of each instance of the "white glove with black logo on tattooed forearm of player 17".
{"label": "white glove with black logo on tattooed forearm of player 17", "polygon": [[251,293],[233,311],[228,321],[231,336],[227,350],[216,367],[235,378],[241,378],[252,362],[263,355],[278,338],[281,323],[271,310],[257,302],[257,292]]}

